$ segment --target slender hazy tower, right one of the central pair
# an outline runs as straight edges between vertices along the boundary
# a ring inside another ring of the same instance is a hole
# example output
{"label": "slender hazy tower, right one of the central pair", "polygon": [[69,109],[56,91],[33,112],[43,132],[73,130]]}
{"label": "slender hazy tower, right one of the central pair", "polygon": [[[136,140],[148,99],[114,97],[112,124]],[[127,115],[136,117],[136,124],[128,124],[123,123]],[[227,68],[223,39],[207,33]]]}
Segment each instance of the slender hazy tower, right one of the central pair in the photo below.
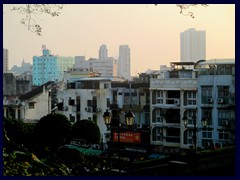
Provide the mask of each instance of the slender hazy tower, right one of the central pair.
{"label": "slender hazy tower, right one of the central pair", "polygon": [[119,46],[118,76],[131,78],[130,48],[128,45]]}

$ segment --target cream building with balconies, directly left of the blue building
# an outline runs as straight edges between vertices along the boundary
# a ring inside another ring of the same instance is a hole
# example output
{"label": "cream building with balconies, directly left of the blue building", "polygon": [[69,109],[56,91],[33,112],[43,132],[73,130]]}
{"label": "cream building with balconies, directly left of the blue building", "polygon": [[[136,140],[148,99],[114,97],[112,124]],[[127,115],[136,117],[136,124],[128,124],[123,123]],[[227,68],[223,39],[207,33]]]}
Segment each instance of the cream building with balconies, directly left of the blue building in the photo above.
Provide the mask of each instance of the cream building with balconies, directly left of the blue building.
{"label": "cream building with balconies, directly left of the blue building", "polygon": [[171,62],[171,70],[165,68],[159,78],[150,79],[150,141],[156,151],[175,152],[191,145],[183,143],[181,119],[186,111],[197,109],[193,66],[193,62]]}

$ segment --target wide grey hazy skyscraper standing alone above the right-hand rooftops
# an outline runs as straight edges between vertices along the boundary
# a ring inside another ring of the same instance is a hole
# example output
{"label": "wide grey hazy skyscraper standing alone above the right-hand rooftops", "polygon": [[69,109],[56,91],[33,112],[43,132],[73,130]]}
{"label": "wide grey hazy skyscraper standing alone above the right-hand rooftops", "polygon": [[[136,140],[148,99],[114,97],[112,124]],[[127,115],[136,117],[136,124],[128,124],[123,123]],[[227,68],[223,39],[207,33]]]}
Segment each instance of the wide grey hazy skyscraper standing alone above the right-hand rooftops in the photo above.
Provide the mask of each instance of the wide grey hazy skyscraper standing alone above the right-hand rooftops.
{"label": "wide grey hazy skyscraper standing alone above the right-hand rooftops", "polygon": [[206,59],[206,31],[189,28],[180,34],[181,62]]}

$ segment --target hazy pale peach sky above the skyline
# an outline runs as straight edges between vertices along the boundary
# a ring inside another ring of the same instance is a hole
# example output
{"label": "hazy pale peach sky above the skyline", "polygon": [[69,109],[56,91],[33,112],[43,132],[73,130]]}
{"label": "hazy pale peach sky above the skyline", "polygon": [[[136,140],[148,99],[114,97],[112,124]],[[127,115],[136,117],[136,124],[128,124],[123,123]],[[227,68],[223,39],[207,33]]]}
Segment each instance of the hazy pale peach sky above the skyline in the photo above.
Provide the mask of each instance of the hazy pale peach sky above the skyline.
{"label": "hazy pale peach sky above the skyline", "polygon": [[41,15],[41,37],[20,24],[21,15],[3,6],[3,47],[9,50],[9,68],[32,63],[41,56],[42,44],[53,55],[98,58],[101,44],[108,55],[118,57],[119,45],[131,49],[131,72],[145,72],[180,61],[180,32],[206,30],[206,56],[235,58],[235,5],[192,7],[195,18],[183,16],[176,5],[66,5],[59,17]]}

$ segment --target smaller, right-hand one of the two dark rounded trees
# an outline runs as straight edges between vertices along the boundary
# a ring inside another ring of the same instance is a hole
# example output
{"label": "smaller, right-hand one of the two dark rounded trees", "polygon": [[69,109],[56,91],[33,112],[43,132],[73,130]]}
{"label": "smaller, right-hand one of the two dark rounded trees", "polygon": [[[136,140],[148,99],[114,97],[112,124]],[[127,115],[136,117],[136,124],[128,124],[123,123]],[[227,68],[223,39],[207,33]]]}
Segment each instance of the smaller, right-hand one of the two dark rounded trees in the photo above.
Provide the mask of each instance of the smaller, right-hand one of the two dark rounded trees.
{"label": "smaller, right-hand one of the two dark rounded trees", "polygon": [[72,126],[71,137],[87,144],[100,142],[100,129],[96,123],[89,120],[77,121]]}

